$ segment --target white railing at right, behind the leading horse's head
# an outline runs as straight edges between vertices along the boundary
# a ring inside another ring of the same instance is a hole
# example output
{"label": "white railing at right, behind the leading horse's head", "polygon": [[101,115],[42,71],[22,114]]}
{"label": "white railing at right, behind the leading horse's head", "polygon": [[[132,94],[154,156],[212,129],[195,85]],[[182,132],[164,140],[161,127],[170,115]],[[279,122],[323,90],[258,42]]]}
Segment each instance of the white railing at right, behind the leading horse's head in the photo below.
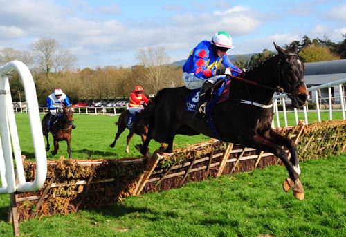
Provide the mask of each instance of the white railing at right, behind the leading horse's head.
{"label": "white railing at right, behind the leading horse's head", "polygon": [[[322,84],[320,86],[313,86],[308,88],[308,91],[311,91],[311,95],[313,95],[313,99],[316,103],[316,112],[317,112],[317,116],[318,116],[318,122],[321,122],[321,115],[320,115],[320,98],[318,97],[318,91],[322,88],[328,88],[328,104],[329,104],[329,120],[333,120],[333,99],[335,101],[340,102],[340,107],[341,107],[341,111],[343,114],[343,120],[346,119],[345,116],[345,95],[344,95],[344,86],[343,84],[346,84],[346,78],[345,79],[340,79],[338,81],[335,82],[329,82],[327,84]],[[332,97],[332,93],[331,93],[331,87],[334,88],[338,88],[339,91],[339,96],[338,97]],[[284,113],[284,126],[288,126],[287,124],[287,114],[286,114],[286,94],[282,94],[282,95],[274,95],[273,96],[273,103],[274,103],[274,112],[276,115],[276,127],[280,127],[280,118],[279,118],[279,113],[278,113],[278,109],[277,109],[277,101],[280,100],[282,102],[282,108],[283,108],[283,113]],[[307,106],[303,107],[304,110],[304,120],[305,123],[308,124],[308,117],[307,117]],[[297,108],[294,108],[294,113],[295,113],[295,124],[298,124],[298,110]],[[273,117],[273,122],[272,122],[272,126],[275,127],[275,119]]]}

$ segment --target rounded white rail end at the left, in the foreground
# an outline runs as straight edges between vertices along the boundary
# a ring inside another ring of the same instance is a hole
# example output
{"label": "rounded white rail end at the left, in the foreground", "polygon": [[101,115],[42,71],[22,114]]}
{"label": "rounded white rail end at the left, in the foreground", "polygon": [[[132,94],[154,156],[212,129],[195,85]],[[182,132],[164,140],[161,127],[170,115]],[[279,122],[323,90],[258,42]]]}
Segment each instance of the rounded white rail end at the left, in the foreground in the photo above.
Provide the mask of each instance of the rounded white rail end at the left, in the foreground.
{"label": "rounded white rail end at the left, in the foreground", "polygon": [[[35,180],[33,182],[26,182],[15,113],[12,107],[8,75],[15,70],[21,77],[28,104],[31,136],[33,138],[36,159]],[[0,132],[0,178],[2,184],[0,194],[14,193],[15,191],[35,191],[41,188],[46,180],[47,158],[39,117],[39,106],[33,76],[28,67],[21,61],[10,61],[5,66],[0,66]],[[17,180],[12,152],[15,155]]]}

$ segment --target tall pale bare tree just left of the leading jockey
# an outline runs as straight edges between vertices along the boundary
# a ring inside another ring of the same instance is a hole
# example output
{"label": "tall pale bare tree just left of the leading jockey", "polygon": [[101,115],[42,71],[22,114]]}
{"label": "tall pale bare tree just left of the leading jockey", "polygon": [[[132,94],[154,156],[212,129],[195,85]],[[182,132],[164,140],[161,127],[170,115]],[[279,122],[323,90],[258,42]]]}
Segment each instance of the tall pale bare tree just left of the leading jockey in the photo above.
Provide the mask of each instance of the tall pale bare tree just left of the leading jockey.
{"label": "tall pale bare tree just left of the leading jockey", "polygon": [[167,67],[169,57],[164,47],[148,47],[140,49],[137,52],[136,58],[140,65],[143,66],[138,81],[142,84],[149,83],[153,88],[153,93],[157,93],[164,86],[167,77]]}

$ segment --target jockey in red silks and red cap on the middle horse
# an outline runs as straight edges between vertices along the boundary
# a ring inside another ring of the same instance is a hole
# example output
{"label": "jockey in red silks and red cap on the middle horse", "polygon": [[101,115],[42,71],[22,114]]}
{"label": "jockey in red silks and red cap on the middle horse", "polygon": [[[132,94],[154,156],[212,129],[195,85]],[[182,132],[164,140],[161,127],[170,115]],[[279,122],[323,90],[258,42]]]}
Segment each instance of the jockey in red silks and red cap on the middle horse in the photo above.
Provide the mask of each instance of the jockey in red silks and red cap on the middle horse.
{"label": "jockey in red silks and red cap on the middle horse", "polygon": [[135,122],[134,117],[136,113],[139,113],[144,107],[143,104],[147,104],[149,99],[144,95],[144,89],[142,86],[136,86],[134,91],[131,92],[129,98],[129,113],[131,116],[127,121],[127,126],[131,128],[132,124]]}

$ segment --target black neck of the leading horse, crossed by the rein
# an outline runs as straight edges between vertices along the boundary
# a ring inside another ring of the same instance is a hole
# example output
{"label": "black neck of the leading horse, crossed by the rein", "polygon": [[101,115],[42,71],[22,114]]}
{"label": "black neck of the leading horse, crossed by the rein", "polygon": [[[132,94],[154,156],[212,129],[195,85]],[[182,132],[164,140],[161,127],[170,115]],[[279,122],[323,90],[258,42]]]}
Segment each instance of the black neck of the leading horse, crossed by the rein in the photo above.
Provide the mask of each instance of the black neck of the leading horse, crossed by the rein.
{"label": "black neck of the leading horse, crossed by the rein", "polygon": [[[245,79],[251,79],[258,84],[262,84],[264,86],[269,86],[271,88],[277,87],[277,65],[279,58],[277,56],[271,57],[267,59],[262,64],[256,66],[252,70],[249,70],[245,73]],[[248,95],[248,99],[253,100],[254,102],[259,102],[261,104],[269,104],[271,99],[273,98],[274,91],[262,88],[260,86],[253,86],[250,84],[246,85],[246,93]]]}

